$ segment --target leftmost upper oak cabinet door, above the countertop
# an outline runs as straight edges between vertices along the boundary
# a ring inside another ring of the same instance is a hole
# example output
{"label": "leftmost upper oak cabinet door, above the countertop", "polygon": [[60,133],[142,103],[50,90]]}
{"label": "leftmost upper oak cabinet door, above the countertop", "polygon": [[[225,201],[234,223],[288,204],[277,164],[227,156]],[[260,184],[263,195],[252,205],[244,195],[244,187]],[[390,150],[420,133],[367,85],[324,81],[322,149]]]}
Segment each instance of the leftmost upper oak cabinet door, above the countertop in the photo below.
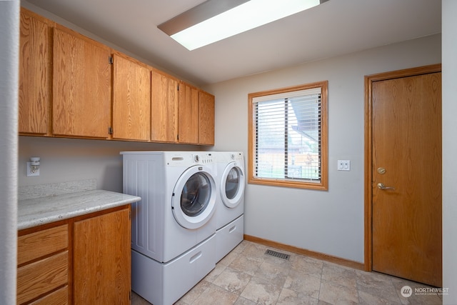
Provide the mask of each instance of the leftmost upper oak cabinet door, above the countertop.
{"label": "leftmost upper oak cabinet door, above the countertop", "polygon": [[50,21],[21,9],[19,133],[48,134],[51,106]]}

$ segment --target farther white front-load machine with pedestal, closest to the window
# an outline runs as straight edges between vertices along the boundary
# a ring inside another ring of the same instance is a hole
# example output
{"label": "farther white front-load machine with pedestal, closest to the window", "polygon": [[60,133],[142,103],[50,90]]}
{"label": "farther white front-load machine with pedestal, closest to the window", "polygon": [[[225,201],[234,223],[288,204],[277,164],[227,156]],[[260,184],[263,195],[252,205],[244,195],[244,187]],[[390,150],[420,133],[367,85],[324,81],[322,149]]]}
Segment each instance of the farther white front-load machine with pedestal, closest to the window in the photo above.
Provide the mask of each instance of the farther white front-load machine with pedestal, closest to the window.
{"label": "farther white front-load machine with pedestal, closest to the window", "polygon": [[244,174],[243,152],[213,152],[219,177],[216,201],[216,261],[229,254],[244,235]]}

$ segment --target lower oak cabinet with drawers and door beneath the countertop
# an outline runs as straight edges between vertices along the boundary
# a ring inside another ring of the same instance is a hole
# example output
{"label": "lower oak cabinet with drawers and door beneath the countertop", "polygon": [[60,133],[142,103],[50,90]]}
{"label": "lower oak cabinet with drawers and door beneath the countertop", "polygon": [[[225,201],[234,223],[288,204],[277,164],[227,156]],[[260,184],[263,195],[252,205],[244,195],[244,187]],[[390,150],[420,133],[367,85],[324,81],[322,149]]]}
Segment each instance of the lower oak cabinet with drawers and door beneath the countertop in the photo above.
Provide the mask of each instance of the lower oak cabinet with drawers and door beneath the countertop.
{"label": "lower oak cabinet with drawers and door beneath the countertop", "polygon": [[130,304],[130,211],[19,231],[17,304]]}

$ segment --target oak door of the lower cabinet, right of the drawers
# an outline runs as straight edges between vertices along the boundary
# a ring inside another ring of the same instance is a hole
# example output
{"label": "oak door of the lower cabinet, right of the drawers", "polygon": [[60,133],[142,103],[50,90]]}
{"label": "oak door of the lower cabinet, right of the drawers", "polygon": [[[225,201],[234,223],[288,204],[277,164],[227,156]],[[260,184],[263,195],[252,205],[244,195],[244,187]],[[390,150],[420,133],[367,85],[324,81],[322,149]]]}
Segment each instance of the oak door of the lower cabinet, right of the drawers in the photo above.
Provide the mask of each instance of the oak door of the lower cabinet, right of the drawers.
{"label": "oak door of the lower cabinet, right of the drawers", "polygon": [[74,304],[130,304],[130,209],[74,223]]}

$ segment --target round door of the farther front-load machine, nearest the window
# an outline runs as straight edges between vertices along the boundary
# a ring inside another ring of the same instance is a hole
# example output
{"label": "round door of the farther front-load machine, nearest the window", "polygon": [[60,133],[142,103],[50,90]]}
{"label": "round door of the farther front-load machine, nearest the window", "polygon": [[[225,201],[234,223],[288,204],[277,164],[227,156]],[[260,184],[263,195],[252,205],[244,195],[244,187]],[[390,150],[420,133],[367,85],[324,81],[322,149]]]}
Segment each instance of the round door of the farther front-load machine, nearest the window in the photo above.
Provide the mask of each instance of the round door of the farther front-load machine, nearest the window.
{"label": "round door of the farther front-load machine, nearest the window", "polygon": [[224,205],[234,208],[243,199],[244,173],[237,162],[231,162],[226,166],[221,179],[221,198]]}

